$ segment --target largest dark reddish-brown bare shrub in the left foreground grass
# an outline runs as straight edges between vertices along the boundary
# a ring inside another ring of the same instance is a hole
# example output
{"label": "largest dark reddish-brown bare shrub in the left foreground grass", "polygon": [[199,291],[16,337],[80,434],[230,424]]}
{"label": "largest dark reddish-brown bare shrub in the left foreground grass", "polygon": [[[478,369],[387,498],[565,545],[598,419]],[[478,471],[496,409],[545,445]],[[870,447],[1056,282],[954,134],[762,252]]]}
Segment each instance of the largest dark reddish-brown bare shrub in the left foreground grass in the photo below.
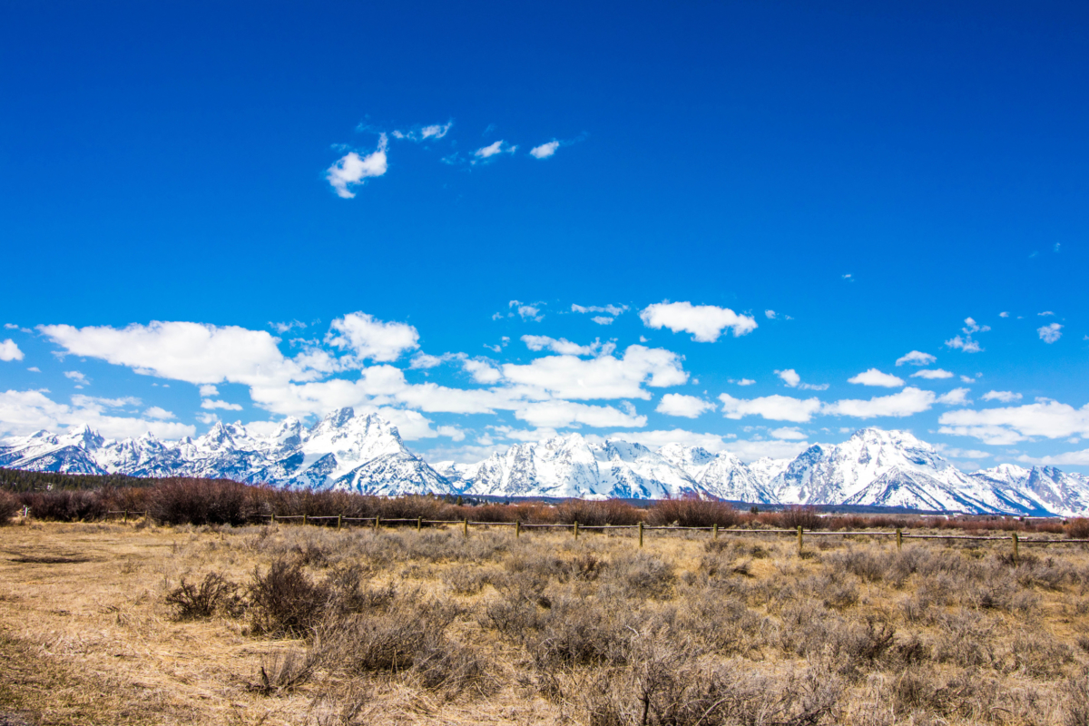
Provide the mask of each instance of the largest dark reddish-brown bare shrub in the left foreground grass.
{"label": "largest dark reddish-brown bare shrub in the left foreground grass", "polygon": [[249,604],[255,632],[305,637],[332,604],[328,583],[315,583],[297,562],[278,559],[261,575],[254,570]]}

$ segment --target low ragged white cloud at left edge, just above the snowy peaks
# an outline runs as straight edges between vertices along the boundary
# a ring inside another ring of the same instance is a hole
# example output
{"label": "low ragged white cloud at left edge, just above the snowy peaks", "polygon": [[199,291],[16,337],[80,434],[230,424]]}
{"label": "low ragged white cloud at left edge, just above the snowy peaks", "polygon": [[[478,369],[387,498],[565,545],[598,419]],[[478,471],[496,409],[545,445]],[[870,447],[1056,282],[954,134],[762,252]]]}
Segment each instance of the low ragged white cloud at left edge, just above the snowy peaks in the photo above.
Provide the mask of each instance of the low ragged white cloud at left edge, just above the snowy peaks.
{"label": "low ragged white cloud at left edge, just above the snowy peaks", "polygon": [[[108,439],[125,439],[151,432],[160,439],[180,439],[196,434],[196,428],[178,422],[155,421],[105,413],[107,408],[130,405],[136,398],[93,398],[73,396],[72,405],[58,404],[41,391],[0,393],[0,433],[25,435],[47,429],[63,430],[86,423]],[[118,404],[118,406],[113,405]]]}

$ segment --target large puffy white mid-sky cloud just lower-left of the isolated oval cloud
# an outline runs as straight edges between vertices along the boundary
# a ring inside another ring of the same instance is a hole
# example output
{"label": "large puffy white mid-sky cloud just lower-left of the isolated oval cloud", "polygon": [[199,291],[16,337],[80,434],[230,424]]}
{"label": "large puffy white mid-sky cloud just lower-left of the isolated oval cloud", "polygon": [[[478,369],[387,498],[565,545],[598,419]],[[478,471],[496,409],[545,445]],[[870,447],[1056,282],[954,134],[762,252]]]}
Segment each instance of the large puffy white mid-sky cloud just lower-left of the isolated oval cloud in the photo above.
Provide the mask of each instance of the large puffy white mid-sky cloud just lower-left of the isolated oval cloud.
{"label": "large puffy white mid-sky cloud just lower-left of the isolated oval cloud", "polygon": [[664,387],[688,381],[677,354],[631,345],[623,358],[602,355],[584,360],[572,355],[546,356],[528,365],[504,364],[503,376],[515,384],[543,389],[558,398],[650,398],[643,384]]}

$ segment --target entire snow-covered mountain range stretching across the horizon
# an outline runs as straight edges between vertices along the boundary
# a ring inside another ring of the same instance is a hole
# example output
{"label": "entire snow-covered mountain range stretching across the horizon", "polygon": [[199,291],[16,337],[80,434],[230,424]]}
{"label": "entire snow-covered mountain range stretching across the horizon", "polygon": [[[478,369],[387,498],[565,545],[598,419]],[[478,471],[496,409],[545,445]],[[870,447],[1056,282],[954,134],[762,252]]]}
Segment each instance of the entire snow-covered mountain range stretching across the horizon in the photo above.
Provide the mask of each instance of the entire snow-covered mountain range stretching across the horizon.
{"label": "entire snow-covered mountain range stretching across the horizon", "polygon": [[579,433],[519,443],[476,464],[431,467],[377,415],[334,410],[313,427],[285,419],[267,436],[216,423],[178,442],[151,434],[106,440],[84,426],[0,441],[0,467],[134,477],[211,477],[367,494],[664,499],[685,495],[757,504],[902,506],[971,514],[1089,513],[1089,477],[1054,467],[1001,464],[965,473],[904,431],[867,428],[842,444],[793,459],[748,465],[729,452],[668,444],[650,450]]}

